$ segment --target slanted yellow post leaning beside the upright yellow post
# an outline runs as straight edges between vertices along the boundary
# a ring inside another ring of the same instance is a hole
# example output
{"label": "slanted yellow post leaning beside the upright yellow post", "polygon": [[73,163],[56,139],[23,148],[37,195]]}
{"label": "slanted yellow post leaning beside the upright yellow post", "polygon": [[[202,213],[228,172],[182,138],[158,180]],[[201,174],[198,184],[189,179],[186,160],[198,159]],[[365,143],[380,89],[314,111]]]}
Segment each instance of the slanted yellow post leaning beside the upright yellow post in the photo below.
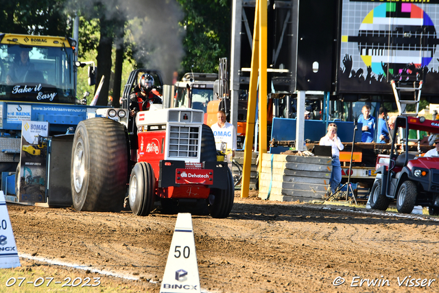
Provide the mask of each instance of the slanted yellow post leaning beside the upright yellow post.
{"label": "slanted yellow post leaning beside the upright yellow post", "polygon": [[241,198],[248,197],[250,190],[250,171],[252,169],[252,143],[254,136],[254,117],[256,112],[256,95],[259,69],[259,0],[256,1],[254,12],[252,69],[250,71],[250,85],[247,106],[246,148],[244,149],[244,165],[242,166]]}

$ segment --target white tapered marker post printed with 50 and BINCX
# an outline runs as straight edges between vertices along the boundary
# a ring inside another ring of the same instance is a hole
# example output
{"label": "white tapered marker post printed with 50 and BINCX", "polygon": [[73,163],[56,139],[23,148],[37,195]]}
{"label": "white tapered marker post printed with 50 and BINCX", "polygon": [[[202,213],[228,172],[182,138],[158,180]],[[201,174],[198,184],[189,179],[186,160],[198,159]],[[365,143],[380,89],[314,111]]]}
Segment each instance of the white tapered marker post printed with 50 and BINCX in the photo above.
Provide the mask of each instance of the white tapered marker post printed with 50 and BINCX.
{"label": "white tapered marker post printed with 50 and BINCX", "polygon": [[178,213],[160,293],[201,292],[190,213]]}

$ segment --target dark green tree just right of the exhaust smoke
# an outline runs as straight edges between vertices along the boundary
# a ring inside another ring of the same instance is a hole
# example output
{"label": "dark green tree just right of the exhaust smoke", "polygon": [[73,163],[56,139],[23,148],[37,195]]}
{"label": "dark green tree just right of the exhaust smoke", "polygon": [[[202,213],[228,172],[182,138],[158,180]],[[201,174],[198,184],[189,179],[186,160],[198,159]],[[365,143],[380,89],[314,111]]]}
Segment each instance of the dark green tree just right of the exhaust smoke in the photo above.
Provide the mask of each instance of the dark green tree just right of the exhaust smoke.
{"label": "dark green tree just right of the exhaust smoke", "polygon": [[185,19],[180,23],[186,32],[181,73],[217,72],[219,58],[229,55],[230,1],[177,1],[185,12]]}

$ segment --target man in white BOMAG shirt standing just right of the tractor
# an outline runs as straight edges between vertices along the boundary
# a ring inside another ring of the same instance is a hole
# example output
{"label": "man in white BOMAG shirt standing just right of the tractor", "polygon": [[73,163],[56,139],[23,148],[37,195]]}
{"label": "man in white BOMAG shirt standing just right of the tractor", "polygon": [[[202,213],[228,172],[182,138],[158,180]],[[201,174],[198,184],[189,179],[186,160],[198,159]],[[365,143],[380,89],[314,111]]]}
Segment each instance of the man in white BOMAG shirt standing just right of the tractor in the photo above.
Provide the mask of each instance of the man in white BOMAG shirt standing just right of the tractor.
{"label": "man in white BOMAG shirt standing just right of the tractor", "polygon": [[217,123],[211,126],[217,150],[221,150],[222,144],[226,150],[232,150],[235,156],[236,150],[236,129],[233,124],[226,121],[226,113],[223,110],[217,112]]}

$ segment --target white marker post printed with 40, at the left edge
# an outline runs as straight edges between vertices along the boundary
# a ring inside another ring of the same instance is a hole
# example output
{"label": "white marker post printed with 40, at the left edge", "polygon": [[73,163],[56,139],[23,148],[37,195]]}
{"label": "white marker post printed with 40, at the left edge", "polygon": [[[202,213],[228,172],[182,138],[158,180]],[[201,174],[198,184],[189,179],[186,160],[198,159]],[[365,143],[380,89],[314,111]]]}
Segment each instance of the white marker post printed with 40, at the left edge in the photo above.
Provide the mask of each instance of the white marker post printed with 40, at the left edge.
{"label": "white marker post printed with 40, at the left edge", "polygon": [[0,191],[0,268],[21,266],[19,252],[16,249],[5,195]]}

